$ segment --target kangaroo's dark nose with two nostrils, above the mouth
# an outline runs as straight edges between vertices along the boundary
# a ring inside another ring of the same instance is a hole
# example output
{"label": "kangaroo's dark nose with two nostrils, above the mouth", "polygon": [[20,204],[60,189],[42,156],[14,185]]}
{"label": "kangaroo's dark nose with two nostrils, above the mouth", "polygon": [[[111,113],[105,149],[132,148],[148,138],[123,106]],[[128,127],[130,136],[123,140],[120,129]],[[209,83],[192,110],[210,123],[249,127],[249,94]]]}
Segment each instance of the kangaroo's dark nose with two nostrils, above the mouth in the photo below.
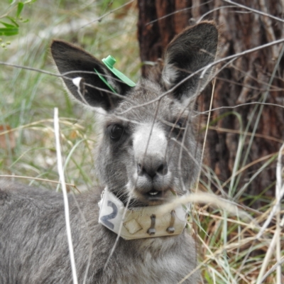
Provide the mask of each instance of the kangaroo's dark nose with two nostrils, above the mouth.
{"label": "kangaroo's dark nose with two nostrils, above the mouth", "polygon": [[138,175],[145,175],[151,178],[155,175],[166,175],[168,173],[168,164],[165,161],[158,161],[156,163],[147,163],[143,160],[143,163],[138,163]]}

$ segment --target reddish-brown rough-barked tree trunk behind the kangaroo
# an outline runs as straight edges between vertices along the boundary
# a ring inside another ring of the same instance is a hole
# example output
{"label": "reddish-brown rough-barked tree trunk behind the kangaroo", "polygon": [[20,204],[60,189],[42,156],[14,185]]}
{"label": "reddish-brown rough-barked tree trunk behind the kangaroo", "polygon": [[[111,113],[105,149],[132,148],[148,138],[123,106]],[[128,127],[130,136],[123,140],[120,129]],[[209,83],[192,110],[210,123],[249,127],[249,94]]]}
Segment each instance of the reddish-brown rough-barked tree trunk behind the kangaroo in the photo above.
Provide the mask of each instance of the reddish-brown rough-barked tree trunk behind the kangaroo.
{"label": "reddish-brown rough-barked tree trunk behind the kangaroo", "polygon": [[[284,4],[280,0],[239,0],[238,3],[279,18],[284,13]],[[219,26],[219,58],[284,38],[280,21],[226,1],[138,0],[138,9],[142,62],[156,62],[174,35],[201,18],[214,20]],[[228,60],[220,64],[213,109],[251,102],[283,107],[283,59],[273,76],[282,47],[283,44],[261,48],[241,56],[230,65],[224,66]],[[143,65],[142,74],[146,76],[150,69],[151,65]],[[202,93],[198,101],[199,111],[209,109],[210,99],[209,90]],[[203,116],[200,121],[207,121],[207,117]],[[210,121],[204,163],[214,170],[231,197],[240,190],[246,195],[256,196],[264,192],[273,195],[276,162],[275,159],[272,163],[268,161],[284,141],[283,108],[247,104],[234,109],[218,109],[212,111]],[[262,166],[264,169],[257,174]],[[260,205],[255,202],[253,207]]]}

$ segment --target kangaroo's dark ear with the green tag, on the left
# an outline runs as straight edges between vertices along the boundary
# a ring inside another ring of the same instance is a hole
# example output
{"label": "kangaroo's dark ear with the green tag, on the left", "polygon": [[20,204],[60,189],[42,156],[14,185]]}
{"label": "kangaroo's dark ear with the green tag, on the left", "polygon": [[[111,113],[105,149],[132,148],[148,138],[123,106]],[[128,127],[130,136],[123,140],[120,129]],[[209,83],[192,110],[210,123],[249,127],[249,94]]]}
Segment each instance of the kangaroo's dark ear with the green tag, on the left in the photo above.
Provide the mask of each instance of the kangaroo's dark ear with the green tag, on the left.
{"label": "kangaroo's dark ear with the green tag, on the left", "polygon": [[[117,94],[125,94],[130,88],[128,85],[119,81],[107,67],[81,48],[75,45],[65,43],[61,40],[54,40],[51,44],[51,53],[53,60],[58,67],[63,80],[70,93],[84,104],[91,107],[102,107],[105,110],[113,109],[121,100],[114,94],[107,84],[105,84],[94,71],[99,72],[105,80],[111,85]],[[67,73],[67,74],[66,74]],[[72,79],[82,77],[80,87],[84,89],[84,97],[78,92],[78,87],[72,82]],[[84,84],[82,86],[82,83]]]}

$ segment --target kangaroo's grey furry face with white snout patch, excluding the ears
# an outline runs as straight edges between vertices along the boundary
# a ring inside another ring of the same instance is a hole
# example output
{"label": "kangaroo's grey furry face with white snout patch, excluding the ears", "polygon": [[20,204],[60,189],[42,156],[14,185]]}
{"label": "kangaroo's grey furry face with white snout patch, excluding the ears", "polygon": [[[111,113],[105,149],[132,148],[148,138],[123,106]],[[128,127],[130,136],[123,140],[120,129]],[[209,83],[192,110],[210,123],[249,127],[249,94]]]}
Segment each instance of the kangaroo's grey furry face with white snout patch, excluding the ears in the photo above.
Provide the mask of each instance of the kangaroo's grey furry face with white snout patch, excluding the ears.
{"label": "kangaroo's grey furry face with white snout patch, excluding the ears", "polygon": [[164,202],[173,197],[169,190],[184,193],[200,163],[192,114],[150,81],[126,98],[104,121],[99,176],[124,202],[130,195],[133,205]]}

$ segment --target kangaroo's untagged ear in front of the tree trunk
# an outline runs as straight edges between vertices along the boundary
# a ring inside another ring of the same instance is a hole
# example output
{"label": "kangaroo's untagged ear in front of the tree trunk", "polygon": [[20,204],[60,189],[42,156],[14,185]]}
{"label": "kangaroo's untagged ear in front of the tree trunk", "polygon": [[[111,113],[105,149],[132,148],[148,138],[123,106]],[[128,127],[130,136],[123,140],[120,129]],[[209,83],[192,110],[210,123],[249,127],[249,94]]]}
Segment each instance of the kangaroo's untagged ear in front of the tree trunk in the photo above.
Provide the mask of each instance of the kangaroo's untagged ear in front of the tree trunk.
{"label": "kangaroo's untagged ear in front of the tree trunk", "polygon": [[[212,22],[199,23],[177,35],[165,50],[165,65],[162,72],[162,84],[165,89],[171,89],[193,72],[214,62],[217,45],[218,30]],[[177,99],[192,96],[197,89],[204,89],[211,73],[212,70],[207,70],[200,80],[199,72],[175,88],[173,94]]]}

